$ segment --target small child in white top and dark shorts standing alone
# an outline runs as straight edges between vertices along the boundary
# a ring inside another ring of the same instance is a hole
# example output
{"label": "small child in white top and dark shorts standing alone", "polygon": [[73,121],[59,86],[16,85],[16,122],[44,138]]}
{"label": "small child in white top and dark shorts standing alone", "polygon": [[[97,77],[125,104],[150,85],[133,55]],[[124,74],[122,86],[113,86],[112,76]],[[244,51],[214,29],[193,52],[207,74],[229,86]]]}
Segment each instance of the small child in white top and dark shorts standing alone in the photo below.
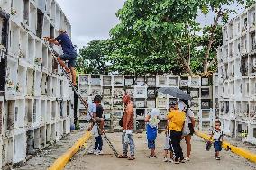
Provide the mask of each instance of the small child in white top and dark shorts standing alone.
{"label": "small child in white top and dark shorts standing alone", "polygon": [[214,138],[215,158],[220,160],[220,151],[222,150],[223,143],[223,130],[221,130],[221,122],[215,121],[215,129],[212,130],[210,139]]}

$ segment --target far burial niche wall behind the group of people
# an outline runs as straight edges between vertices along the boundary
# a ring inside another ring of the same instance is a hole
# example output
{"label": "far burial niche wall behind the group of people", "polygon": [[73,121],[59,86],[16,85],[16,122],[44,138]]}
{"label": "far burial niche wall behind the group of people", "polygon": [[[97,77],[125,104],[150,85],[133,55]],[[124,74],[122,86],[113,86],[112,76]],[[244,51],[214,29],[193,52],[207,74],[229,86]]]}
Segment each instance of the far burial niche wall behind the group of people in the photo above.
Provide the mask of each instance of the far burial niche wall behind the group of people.
{"label": "far burial niche wall behind the group of people", "polygon": [[[165,128],[169,103],[177,99],[157,93],[160,87],[174,86],[191,94],[192,109],[196,115],[197,128],[208,130],[212,125],[212,87],[211,78],[190,76],[122,76],[122,75],[78,75],[78,91],[86,100],[96,94],[103,95],[105,109],[105,128],[120,129],[118,122],[124,112],[122,103],[123,88],[133,97],[134,129],[144,129],[144,116],[155,107],[160,109],[160,128]],[[83,104],[78,105],[80,119],[84,119]]]}

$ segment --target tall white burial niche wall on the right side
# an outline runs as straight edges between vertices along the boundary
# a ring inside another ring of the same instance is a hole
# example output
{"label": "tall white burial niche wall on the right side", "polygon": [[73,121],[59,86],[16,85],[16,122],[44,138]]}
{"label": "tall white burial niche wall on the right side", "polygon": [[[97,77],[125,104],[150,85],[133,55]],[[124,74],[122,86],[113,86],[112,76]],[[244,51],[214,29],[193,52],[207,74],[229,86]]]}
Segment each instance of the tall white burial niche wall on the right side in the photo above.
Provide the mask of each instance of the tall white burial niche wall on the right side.
{"label": "tall white burial niche wall on the right side", "polygon": [[[256,143],[255,4],[223,27],[218,51],[218,114],[224,133]],[[242,137],[242,131],[247,137]]]}

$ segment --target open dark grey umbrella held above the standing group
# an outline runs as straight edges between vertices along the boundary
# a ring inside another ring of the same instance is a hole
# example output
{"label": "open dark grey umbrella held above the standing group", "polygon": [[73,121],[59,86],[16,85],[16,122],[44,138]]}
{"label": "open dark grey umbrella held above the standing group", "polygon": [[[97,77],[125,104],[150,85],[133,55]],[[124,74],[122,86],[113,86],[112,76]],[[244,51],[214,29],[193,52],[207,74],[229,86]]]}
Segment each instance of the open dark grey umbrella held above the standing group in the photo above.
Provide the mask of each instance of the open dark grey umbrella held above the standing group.
{"label": "open dark grey umbrella held above the standing group", "polygon": [[192,97],[183,92],[182,90],[175,88],[175,87],[161,87],[158,89],[158,92],[163,93],[163,94],[169,94],[173,97],[179,98],[179,99],[184,99],[184,100],[191,100]]}

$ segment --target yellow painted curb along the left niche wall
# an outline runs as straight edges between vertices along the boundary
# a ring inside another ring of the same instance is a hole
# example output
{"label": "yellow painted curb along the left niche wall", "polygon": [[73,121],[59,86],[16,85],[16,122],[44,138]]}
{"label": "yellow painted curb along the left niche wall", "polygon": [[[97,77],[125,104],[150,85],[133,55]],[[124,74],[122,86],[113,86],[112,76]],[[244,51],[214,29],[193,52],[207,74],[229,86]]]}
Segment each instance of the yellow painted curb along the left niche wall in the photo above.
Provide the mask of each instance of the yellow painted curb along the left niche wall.
{"label": "yellow painted curb along the left niche wall", "polygon": [[66,164],[69,162],[70,158],[73,157],[79,150],[81,146],[84,145],[84,143],[87,141],[87,139],[91,138],[91,133],[87,131],[81,139],[78,139],[78,141],[71,147],[69,150],[63,154],[61,157],[59,157],[53,164],[48,168],[48,170],[61,170],[66,166]]}

